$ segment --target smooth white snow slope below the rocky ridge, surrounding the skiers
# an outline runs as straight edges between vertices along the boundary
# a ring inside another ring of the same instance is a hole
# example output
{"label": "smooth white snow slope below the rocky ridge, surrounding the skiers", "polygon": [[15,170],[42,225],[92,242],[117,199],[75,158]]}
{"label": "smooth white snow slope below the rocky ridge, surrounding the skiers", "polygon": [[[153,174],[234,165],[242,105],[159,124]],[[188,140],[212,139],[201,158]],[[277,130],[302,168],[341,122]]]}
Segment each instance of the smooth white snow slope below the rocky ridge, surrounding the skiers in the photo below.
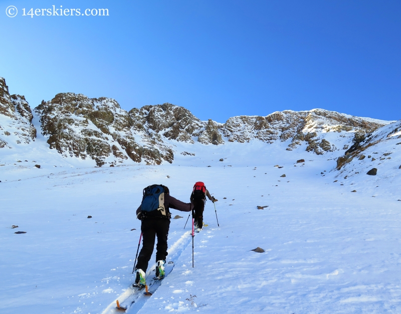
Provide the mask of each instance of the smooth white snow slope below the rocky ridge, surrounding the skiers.
{"label": "smooth white snow slope below the rocky ridge, surrounding the skiers", "polygon": [[[172,165],[114,168],[60,159],[57,151],[41,148],[46,138],[40,134],[22,148],[4,148],[0,312],[115,312],[115,300],[129,295],[134,280],[140,235],[135,209],[142,189],[164,184],[188,201],[196,181],[219,199],[220,227],[207,202],[209,226],[195,234],[192,268],[189,223],[183,229],[187,215],[171,210],[183,216],[171,220],[168,236],[167,260],[175,266],[128,313],[401,312],[401,140],[376,132],[383,140],[363,154],[392,154],[382,161],[354,159],[342,172],[334,169],[343,151],[316,155],[304,144],[287,151],[286,142],[172,141]],[[299,159],[304,165],[296,164]],[[377,176],[367,176],[373,166]],[[256,247],[265,252],[251,251]]]}

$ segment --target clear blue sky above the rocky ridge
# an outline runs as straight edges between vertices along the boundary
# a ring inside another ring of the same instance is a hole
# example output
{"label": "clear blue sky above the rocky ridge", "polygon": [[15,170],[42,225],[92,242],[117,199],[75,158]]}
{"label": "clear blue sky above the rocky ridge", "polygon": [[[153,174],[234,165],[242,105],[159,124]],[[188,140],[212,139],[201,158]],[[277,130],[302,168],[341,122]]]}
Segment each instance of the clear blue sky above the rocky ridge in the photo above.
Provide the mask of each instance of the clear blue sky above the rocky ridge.
{"label": "clear blue sky above the rocky ridge", "polygon": [[[22,16],[53,5],[109,16]],[[401,119],[400,1],[0,0],[0,30],[0,76],[31,107],[75,92],[219,122],[313,108]]]}

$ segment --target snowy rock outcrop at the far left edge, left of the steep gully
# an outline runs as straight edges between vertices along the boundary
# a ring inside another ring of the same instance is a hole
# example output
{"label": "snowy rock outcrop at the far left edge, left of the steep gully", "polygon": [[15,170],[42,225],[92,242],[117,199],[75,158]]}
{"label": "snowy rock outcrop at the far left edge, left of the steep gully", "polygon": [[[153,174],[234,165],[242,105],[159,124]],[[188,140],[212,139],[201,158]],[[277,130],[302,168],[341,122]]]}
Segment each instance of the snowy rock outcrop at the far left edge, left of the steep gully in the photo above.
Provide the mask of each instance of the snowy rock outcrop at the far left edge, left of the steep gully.
{"label": "snowy rock outcrop at the far left edge, left of the steep gully", "polygon": [[0,77],[0,148],[29,144],[36,138],[32,111],[24,96],[10,95],[6,80]]}

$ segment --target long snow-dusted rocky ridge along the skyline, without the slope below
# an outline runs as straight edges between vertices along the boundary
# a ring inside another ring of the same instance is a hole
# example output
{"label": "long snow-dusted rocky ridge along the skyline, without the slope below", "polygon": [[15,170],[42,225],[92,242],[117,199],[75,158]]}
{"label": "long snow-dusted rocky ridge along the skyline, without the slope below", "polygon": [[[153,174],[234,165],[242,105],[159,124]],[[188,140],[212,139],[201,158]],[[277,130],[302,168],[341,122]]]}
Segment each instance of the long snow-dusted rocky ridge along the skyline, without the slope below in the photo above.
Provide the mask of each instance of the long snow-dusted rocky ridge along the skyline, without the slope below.
{"label": "long snow-dusted rocky ridge along the skyline, without the slope below", "polygon": [[59,152],[60,159],[93,160],[97,166],[172,163],[174,154],[187,153],[177,149],[177,142],[284,142],[286,150],[318,155],[340,151],[342,155],[365,134],[390,123],[324,109],[236,116],[218,123],[201,121],[189,110],[169,103],[127,112],[111,98],[60,93],[35,108],[40,122],[35,128],[24,96],[10,95],[4,78],[0,84],[0,147],[29,144],[38,132],[48,148]]}

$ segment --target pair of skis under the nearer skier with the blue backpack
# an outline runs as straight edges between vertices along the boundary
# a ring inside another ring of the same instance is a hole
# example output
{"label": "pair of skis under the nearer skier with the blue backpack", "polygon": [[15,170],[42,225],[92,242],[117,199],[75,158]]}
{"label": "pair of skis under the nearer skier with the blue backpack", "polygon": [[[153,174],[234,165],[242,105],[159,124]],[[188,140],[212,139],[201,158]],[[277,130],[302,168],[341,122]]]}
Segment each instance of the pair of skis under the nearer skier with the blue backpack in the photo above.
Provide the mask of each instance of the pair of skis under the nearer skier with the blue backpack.
{"label": "pair of skis under the nearer skier with the blue backpack", "polygon": [[[121,303],[118,300],[116,301],[117,303],[116,309],[125,311],[128,310],[129,308],[134,307],[135,304],[140,305],[141,303],[144,303],[146,297],[152,295],[157,290],[157,288],[161,285],[163,279],[172,271],[173,268],[174,268],[174,262],[169,261],[168,263],[165,264],[164,277],[158,278],[154,276],[152,277],[148,276],[149,278],[147,278],[145,286],[137,285],[135,283],[132,284],[131,287],[129,288],[132,290],[130,295]],[[155,269],[153,271],[155,271]],[[144,289],[145,292],[143,292]]]}

